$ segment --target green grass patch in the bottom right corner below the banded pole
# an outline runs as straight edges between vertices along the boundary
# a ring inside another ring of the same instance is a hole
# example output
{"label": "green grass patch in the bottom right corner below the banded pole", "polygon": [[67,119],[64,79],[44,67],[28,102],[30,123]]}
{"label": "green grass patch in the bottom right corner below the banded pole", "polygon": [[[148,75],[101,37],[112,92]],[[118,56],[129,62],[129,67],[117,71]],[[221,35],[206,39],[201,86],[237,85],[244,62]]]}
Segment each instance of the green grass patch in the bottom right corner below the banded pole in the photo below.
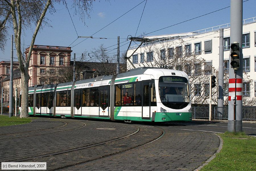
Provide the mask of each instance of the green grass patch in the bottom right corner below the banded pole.
{"label": "green grass patch in the bottom right corner below the banded pole", "polygon": [[256,138],[244,133],[219,134],[223,147],[216,157],[202,168],[210,170],[256,170]]}

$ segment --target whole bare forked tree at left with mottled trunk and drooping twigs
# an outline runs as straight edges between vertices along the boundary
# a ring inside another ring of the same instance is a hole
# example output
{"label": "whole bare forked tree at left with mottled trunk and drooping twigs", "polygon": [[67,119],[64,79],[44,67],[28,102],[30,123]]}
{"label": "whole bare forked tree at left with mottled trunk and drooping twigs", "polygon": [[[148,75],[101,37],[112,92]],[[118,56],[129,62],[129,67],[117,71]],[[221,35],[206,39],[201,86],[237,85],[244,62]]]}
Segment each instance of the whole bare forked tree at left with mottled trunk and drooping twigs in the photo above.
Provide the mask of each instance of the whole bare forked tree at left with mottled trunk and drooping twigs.
{"label": "whole bare forked tree at left with mottled trunk and drooping twigs", "polygon": [[[79,16],[84,19],[85,16],[91,10],[92,2],[94,0],[78,0],[73,1],[73,7],[75,8],[75,13],[79,13]],[[22,91],[22,100],[21,100],[21,114],[20,117],[28,117],[28,67],[29,61],[31,58],[32,47],[38,31],[42,26],[48,26],[48,19],[45,18],[46,12],[50,14],[55,12],[53,7],[53,2],[60,3],[61,0],[0,0],[0,21],[1,21],[1,30],[0,35],[2,35],[1,40],[6,39],[5,29],[12,27],[15,35],[15,45],[16,45],[16,54],[18,57],[19,67],[21,71],[21,91]],[[64,3],[64,1],[62,1]],[[8,22],[9,21],[9,22]],[[2,24],[3,23],[3,24]],[[21,51],[21,34],[24,28],[30,28],[30,26],[36,25],[34,33],[32,35],[32,40],[30,43],[30,48],[26,58],[23,58]],[[5,38],[5,39],[4,39]]]}

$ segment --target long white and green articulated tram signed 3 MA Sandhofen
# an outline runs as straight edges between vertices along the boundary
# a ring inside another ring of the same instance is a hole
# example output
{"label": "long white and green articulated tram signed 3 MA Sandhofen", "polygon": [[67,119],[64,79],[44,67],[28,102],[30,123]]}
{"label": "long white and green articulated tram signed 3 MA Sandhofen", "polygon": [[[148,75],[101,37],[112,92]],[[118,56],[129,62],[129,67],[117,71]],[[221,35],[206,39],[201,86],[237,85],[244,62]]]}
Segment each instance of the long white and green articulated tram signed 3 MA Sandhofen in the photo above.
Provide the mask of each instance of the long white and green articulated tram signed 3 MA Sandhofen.
{"label": "long white and green articulated tram signed 3 MA Sandhofen", "polygon": [[28,112],[125,122],[191,121],[189,78],[178,70],[141,67],[117,75],[29,87]]}

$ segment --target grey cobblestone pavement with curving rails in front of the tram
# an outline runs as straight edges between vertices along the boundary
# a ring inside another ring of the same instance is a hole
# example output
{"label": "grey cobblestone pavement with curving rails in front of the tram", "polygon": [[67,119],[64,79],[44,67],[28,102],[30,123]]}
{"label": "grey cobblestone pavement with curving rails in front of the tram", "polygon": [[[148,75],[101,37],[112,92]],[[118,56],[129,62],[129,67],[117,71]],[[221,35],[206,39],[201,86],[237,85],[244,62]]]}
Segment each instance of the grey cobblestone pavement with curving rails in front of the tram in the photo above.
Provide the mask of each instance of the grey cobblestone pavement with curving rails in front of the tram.
{"label": "grey cobblestone pavement with curving rails in front of the tram", "polygon": [[[134,135],[110,141],[138,128],[140,131]],[[165,131],[161,139],[115,154],[155,139],[161,134],[160,128]],[[125,124],[38,118],[24,125],[0,127],[0,156],[1,162],[47,162],[47,170],[65,166],[71,166],[66,170],[194,170],[218,149],[220,141],[213,132],[226,130],[225,122]],[[255,135],[256,124],[243,123],[243,130]],[[94,146],[97,143],[102,144]],[[70,151],[52,154],[65,150]],[[83,164],[110,154],[115,155]]]}

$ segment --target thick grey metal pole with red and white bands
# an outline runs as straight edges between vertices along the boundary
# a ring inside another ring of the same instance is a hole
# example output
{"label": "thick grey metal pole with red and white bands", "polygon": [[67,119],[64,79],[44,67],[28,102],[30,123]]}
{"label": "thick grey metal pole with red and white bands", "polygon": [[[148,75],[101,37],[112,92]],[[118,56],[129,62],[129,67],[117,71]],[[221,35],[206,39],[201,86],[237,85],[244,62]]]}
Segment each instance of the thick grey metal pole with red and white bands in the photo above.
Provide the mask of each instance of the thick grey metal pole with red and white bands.
{"label": "thick grey metal pole with red and white bands", "polygon": [[[231,83],[235,79],[235,86],[242,85],[243,78],[243,54],[242,54],[242,30],[243,30],[243,1],[242,0],[230,0],[230,42],[238,42],[240,49],[240,68],[236,71],[236,76],[233,68],[229,68],[229,87],[233,87],[234,83]],[[229,62],[231,57],[229,56]],[[237,77],[237,78],[235,78]],[[234,81],[233,81],[234,82]],[[236,89],[236,88],[235,88]],[[228,101],[228,131],[242,131],[242,92],[236,90],[236,97],[234,92],[229,92]],[[232,97],[232,98],[231,98]],[[235,101],[232,100],[234,97]],[[238,98],[239,97],[239,98]],[[236,103],[236,104],[235,104]],[[234,116],[234,105],[236,105],[236,111]]]}

